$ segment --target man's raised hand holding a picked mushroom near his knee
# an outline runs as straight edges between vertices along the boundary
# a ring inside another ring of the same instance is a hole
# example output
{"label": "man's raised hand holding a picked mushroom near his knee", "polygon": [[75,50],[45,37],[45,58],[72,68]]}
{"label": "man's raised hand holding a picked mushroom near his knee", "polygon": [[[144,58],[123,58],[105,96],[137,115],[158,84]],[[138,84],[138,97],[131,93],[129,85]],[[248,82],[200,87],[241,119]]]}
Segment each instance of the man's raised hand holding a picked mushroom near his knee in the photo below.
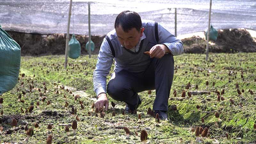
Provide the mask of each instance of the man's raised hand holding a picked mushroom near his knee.
{"label": "man's raised hand holding a picked mushroom near his knee", "polygon": [[156,44],[150,50],[150,58],[162,58],[165,53],[170,53],[170,50],[164,44]]}

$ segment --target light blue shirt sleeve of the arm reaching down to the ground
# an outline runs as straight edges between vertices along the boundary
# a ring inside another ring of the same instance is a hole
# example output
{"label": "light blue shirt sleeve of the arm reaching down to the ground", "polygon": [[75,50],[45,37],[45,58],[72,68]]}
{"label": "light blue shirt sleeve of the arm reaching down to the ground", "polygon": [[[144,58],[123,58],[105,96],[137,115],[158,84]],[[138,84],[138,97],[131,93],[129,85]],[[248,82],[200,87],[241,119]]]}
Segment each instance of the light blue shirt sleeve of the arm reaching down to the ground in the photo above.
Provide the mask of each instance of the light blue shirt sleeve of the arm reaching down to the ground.
{"label": "light blue shirt sleeve of the arm reaching down to the ground", "polygon": [[97,96],[102,92],[107,93],[107,76],[113,64],[113,58],[110,46],[104,38],[100,46],[96,68],[93,71],[93,90]]}

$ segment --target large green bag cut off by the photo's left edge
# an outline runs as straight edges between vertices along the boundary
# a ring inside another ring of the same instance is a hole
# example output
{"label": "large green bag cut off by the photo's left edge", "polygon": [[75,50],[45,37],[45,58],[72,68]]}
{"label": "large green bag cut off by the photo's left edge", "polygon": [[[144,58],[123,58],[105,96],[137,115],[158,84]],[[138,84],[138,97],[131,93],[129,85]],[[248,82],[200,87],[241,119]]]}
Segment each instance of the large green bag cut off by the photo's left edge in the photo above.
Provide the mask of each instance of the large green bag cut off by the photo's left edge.
{"label": "large green bag cut off by the photo's left edge", "polygon": [[20,72],[20,45],[0,25],[0,94],[14,88]]}

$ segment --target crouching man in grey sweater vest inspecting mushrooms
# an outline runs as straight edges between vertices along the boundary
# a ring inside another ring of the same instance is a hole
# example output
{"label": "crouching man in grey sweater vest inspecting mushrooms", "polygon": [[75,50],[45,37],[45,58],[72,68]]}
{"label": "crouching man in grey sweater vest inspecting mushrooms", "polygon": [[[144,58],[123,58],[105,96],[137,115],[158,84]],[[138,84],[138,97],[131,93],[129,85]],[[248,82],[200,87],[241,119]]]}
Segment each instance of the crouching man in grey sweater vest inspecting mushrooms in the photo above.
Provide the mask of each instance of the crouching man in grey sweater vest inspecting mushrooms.
{"label": "crouching man in grey sweater vest inspecting mushrooms", "polygon": [[[148,54],[146,53],[148,52]],[[96,108],[108,109],[107,94],[126,103],[126,111],[134,112],[141,104],[138,92],[156,90],[153,110],[167,119],[168,98],[174,73],[173,56],[183,52],[183,44],[151,20],[141,20],[136,12],[121,12],[115,29],[104,38],[93,72]],[[106,84],[115,59],[115,69]]]}

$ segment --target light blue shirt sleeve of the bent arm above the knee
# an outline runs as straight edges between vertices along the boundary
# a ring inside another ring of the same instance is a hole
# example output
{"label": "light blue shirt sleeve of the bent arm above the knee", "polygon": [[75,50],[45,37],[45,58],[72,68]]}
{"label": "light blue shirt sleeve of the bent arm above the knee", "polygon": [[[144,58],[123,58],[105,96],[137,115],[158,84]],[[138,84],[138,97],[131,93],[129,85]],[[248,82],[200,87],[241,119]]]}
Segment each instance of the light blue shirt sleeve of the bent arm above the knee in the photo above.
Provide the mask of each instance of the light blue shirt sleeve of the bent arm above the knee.
{"label": "light blue shirt sleeve of the bent arm above the knee", "polygon": [[180,55],[183,52],[183,43],[159,23],[157,28],[159,44],[166,45],[173,56]]}

